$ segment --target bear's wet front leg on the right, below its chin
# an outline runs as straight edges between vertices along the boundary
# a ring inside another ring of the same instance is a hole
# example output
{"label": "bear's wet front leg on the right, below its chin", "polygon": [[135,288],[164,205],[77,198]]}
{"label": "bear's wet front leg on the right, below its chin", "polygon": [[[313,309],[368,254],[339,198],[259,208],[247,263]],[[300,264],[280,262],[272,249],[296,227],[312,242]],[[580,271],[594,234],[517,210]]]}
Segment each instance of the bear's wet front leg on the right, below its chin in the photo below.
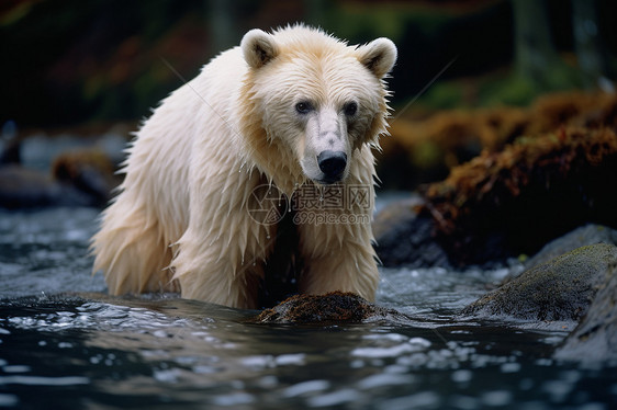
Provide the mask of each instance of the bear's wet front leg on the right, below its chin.
{"label": "bear's wet front leg on the right, below its chin", "polygon": [[[370,225],[372,186],[313,189],[319,191],[318,202],[299,196],[292,203],[304,263],[299,278],[300,292],[315,295],[334,291],[352,292],[374,300],[379,271]],[[354,190],[362,189],[366,190],[362,197],[371,201],[368,205],[354,196]],[[308,197],[314,197],[306,190],[298,194],[307,193]],[[336,195],[344,196],[337,202]]]}

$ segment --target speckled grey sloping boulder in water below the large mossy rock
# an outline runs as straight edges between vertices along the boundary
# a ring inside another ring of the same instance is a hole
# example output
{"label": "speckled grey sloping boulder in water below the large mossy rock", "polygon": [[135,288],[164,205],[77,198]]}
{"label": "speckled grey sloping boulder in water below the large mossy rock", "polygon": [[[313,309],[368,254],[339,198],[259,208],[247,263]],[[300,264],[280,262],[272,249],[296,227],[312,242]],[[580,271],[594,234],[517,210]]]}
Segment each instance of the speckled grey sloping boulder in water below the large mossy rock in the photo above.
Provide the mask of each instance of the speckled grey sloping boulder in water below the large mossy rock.
{"label": "speckled grey sloping boulder in water below the large mossy rock", "polygon": [[616,264],[614,244],[577,248],[525,271],[461,314],[480,319],[577,322]]}

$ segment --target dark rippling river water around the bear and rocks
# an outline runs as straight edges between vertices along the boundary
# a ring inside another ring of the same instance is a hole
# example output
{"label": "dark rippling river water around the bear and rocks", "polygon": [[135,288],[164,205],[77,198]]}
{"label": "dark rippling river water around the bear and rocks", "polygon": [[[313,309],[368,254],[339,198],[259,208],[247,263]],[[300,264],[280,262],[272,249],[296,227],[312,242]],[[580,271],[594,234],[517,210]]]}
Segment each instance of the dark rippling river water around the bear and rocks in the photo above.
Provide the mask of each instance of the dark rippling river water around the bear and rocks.
{"label": "dark rippling river water around the bear and rocks", "polygon": [[[456,312],[507,270],[382,270],[414,318],[262,326],[91,276],[93,209],[0,213],[0,408],[610,409],[617,372],[551,358],[565,337]],[[69,292],[69,293],[67,293]],[[64,294],[63,294],[64,293]]]}

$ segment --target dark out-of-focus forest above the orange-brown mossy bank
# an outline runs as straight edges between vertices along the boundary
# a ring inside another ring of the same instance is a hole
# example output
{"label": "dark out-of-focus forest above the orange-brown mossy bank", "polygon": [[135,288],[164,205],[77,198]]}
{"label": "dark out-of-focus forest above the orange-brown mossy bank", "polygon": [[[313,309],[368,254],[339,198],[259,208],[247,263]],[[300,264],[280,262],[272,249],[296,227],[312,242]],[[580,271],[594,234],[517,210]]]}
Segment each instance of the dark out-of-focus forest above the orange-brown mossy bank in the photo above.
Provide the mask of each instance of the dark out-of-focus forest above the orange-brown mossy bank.
{"label": "dark out-of-focus forest above the orange-brown mossy bank", "polygon": [[124,1],[0,4],[0,123],[134,121],[253,29],[299,21],[350,44],[388,36],[402,107],[525,105],[547,91],[610,88],[614,0]]}

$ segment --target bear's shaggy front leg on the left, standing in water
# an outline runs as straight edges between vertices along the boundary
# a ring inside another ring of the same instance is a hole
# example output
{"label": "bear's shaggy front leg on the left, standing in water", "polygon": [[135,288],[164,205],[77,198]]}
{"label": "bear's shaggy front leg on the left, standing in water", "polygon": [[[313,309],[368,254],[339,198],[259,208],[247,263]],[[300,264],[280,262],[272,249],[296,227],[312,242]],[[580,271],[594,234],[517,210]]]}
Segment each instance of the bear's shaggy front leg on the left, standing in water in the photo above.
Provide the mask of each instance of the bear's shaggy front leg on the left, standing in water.
{"label": "bear's shaggy front leg on the left, standing in water", "polygon": [[[173,278],[182,297],[236,308],[257,308],[259,285],[267,258],[272,251],[277,226],[267,224],[278,203],[267,197],[267,185],[256,173],[237,181],[226,176],[221,192],[202,190],[191,203],[190,224],[178,243],[171,262]],[[277,192],[277,191],[274,191]],[[227,194],[229,193],[229,194]],[[214,203],[216,203],[214,205]]]}

